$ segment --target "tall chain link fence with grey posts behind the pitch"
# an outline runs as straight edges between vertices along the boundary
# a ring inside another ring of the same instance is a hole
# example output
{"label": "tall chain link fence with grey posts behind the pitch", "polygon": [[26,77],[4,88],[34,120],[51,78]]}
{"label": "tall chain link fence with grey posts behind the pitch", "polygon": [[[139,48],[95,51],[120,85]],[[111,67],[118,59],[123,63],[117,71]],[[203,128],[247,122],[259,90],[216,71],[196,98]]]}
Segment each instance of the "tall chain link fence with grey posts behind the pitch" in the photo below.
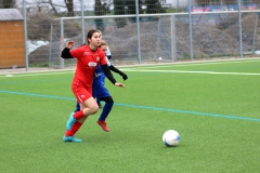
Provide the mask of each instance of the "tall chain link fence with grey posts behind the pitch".
{"label": "tall chain link fence with grey posts behind the pitch", "polygon": [[0,0],[0,68],[74,66],[61,51],[90,29],[114,64],[256,57],[259,15],[258,0]]}

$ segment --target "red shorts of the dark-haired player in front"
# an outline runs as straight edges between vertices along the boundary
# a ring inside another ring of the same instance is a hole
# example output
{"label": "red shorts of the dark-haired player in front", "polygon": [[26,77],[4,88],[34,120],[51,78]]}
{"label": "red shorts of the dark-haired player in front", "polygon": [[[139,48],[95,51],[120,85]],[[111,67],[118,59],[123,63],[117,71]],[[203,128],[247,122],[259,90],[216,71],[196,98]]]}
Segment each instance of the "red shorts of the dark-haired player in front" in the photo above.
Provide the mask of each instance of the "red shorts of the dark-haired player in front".
{"label": "red shorts of the dark-haired player in front", "polygon": [[92,97],[92,88],[86,86],[80,80],[75,79],[73,81],[72,90],[78,103],[82,103]]}

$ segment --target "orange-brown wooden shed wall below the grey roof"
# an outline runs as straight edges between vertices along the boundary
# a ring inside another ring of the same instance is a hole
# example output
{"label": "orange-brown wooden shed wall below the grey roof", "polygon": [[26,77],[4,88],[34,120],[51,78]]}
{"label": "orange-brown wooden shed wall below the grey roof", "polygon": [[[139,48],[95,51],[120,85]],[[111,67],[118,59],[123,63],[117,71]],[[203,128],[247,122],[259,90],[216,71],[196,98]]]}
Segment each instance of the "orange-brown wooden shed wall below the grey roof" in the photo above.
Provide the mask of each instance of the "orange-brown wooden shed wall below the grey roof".
{"label": "orange-brown wooden shed wall below the grey roof", "polygon": [[0,68],[25,66],[23,21],[0,21]]}

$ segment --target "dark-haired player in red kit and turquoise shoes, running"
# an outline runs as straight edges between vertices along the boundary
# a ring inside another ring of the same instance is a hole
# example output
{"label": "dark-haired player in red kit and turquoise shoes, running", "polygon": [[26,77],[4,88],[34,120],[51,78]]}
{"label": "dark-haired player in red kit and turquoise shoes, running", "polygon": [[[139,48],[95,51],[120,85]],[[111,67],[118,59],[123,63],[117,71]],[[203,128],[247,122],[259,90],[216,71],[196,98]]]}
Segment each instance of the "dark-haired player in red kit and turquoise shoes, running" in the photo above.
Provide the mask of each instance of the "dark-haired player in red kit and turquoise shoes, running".
{"label": "dark-haired player in red kit and turquoise shoes, running", "polygon": [[72,90],[78,103],[80,103],[80,111],[73,112],[66,123],[66,132],[63,136],[64,142],[80,143],[81,139],[75,138],[74,135],[86,119],[99,110],[99,105],[92,97],[93,76],[99,64],[101,64],[102,70],[114,85],[125,88],[125,84],[117,82],[113,77],[107,66],[105,54],[99,48],[101,44],[100,32],[90,30],[87,35],[87,45],[74,50],[70,50],[74,46],[74,41],[68,41],[61,55],[63,58],[77,58],[77,68]]}

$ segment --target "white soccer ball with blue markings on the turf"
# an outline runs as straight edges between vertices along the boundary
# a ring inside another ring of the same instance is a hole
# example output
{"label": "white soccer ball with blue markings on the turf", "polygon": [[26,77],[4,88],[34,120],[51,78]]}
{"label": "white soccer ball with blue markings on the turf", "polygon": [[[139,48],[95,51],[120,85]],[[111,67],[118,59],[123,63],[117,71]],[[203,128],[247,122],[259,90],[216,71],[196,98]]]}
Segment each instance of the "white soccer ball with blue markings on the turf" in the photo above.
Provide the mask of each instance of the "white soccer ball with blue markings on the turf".
{"label": "white soccer ball with blue markings on the turf", "polygon": [[162,135],[162,142],[168,147],[176,147],[180,143],[181,136],[174,130],[168,130]]}

